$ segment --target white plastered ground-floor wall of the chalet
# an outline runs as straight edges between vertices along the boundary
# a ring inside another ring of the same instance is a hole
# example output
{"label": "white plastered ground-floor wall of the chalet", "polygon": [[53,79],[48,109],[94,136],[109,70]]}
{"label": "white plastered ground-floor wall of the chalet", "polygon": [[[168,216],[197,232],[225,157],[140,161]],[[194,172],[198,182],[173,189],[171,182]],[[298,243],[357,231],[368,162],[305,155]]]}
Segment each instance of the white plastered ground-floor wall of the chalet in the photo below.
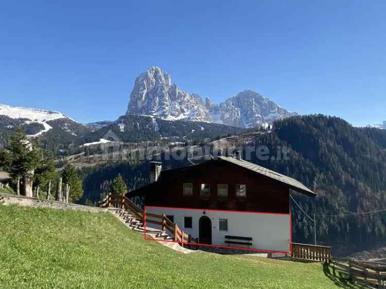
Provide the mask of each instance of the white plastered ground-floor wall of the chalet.
{"label": "white plastered ground-floor wall of the chalet", "polygon": [[[290,215],[268,214],[232,211],[211,211],[197,209],[172,209],[159,207],[146,207],[147,212],[154,214],[166,214],[174,216],[174,223],[192,237],[199,237],[199,220],[201,216],[208,216],[212,220],[212,244],[227,246],[224,243],[225,235],[237,237],[250,237],[252,246],[239,246],[260,250],[272,250],[289,252],[290,250]],[[191,229],[184,228],[184,217],[192,217]],[[155,220],[154,218],[149,218]],[[219,219],[228,220],[228,231],[219,230]],[[154,224],[147,224],[149,227],[161,228]],[[238,241],[238,240],[233,240]]]}

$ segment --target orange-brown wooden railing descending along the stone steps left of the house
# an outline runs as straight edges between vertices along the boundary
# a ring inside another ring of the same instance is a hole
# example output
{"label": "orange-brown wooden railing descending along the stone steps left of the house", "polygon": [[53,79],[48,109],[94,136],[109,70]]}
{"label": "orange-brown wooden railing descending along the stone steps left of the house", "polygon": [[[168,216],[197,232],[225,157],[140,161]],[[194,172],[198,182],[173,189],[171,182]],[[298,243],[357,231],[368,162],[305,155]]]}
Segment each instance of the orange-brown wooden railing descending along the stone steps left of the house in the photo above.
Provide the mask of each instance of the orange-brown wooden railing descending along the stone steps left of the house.
{"label": "orange-brown wooden railing descending along the stone steps left of the house", "polygon": [[[130,211],[135,218],[145,221],[146,223],[160,225],[163,231],[169,231],[172,234],[173,241],[179,243],[182,247],[184,245],[191,245],[193,243],[198,243],[198,239],[191,237],[191,235],[185,233],[177,224],[171,222],[165,214],[158,215],[148,213],[134,204],[129,198],[124,195],[109,194],[102,201],[98,203],[98,207],[103,208],[121,208]],[[155,219],[155,220],[153,220]]]}

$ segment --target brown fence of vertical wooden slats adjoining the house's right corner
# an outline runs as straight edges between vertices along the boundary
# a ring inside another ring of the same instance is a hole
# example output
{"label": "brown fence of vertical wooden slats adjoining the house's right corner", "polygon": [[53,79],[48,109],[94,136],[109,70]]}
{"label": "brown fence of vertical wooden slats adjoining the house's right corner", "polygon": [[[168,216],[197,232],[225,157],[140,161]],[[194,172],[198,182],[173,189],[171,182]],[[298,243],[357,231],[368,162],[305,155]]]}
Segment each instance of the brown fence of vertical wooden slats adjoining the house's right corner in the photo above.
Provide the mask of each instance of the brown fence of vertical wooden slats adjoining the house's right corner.
{"label": "brown fence of vertical wooden slats adjoining the house's right corner", "polygon": [[327,246],[292,243],[291,257],[329,263],[331,260],[331,248]]}

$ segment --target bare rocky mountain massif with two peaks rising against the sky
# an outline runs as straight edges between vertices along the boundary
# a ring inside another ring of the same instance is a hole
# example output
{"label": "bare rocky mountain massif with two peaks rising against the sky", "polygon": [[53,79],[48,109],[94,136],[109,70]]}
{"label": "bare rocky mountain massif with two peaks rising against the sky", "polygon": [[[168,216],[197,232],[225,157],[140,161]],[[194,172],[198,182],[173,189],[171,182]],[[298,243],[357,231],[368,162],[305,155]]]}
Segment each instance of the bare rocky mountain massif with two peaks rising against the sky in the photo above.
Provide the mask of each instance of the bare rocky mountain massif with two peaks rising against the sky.
{"label": "bare rocky mountain massif with two peaks rising against the sky", "polygon": [[127,115],[150,115],[166,120],[195,120],[251,128],[296,115],[254,91],[243,91],[220,104],[181,91],[170,75],[150,67],[136,78]]}

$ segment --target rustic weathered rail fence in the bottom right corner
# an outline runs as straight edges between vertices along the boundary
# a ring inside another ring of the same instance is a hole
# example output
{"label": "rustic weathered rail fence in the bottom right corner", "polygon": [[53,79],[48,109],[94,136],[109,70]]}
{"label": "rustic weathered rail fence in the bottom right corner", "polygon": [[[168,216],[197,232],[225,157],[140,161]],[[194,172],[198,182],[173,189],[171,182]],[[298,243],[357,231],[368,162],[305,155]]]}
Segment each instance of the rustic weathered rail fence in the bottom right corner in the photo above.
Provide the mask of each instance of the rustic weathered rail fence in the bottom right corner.
{"label": "rustic weathered rail fence in the bottom right corner", "polygon": [[367,288],[386,289],[386,263],[359,261],[348,258],[333,258],[334,275],[341,276]]}

